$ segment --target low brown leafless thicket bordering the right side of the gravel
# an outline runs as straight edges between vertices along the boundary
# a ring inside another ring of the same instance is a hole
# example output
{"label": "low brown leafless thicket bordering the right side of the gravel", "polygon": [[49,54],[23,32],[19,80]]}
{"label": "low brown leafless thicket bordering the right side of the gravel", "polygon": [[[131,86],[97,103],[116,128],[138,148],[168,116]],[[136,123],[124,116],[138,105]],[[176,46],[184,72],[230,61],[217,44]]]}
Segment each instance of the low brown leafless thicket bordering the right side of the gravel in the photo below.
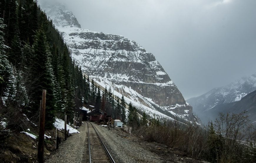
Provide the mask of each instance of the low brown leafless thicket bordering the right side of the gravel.
{"label": "low brown leafless thicket bordering the right side of the gravel", "polygon": [[165,125],[144,126],[136,130],[147,141],[154,141],[182,150],[191,157],[200,157],[207,147],[205,130],[197,124],[168,121]]}

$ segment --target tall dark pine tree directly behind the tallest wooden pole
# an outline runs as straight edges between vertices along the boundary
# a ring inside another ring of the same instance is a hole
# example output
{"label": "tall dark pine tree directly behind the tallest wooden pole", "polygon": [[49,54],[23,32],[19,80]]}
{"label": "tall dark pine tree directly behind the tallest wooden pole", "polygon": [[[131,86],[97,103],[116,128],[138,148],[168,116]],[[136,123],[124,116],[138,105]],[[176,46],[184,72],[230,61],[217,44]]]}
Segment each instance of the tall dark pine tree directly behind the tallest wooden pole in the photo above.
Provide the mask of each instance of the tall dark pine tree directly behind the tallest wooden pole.
{"label": "tall dark pine tree directly behind the tallest wooden pole", "polygon": [[[34,68],[33,76],[38,78],[35,82],[34,90],[34,109],[39,108],[39,101],[41,99],[42,89],[46,89],[46,127],[51,128],[55,121],[55,98],[53,87],[53,70],[50,63],[50,51],[49,45],[46,41],[44,30],[41,28],[38,30],[35,42],[33,44],[34,49]],[[38,75],[39,74],[39,75]]]}

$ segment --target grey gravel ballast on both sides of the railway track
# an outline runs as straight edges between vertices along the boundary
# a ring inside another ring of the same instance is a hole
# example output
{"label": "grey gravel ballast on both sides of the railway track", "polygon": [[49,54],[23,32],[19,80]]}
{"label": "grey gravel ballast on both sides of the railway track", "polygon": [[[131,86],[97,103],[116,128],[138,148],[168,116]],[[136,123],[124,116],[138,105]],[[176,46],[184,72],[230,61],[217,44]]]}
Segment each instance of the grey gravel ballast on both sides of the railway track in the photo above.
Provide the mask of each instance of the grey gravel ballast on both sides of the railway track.
{"label": "grey gravel ballast on both sides of the railway track", "polygon": [[[122,129],[108,129],[92,123],[116,163],[133,162],[204,162],[185,157],[179,151],[155,142],[146,142],[134,134],[122,132]],[[73,134],[59,146],[45,162],[88,162],[88,128],[84,122]]]}

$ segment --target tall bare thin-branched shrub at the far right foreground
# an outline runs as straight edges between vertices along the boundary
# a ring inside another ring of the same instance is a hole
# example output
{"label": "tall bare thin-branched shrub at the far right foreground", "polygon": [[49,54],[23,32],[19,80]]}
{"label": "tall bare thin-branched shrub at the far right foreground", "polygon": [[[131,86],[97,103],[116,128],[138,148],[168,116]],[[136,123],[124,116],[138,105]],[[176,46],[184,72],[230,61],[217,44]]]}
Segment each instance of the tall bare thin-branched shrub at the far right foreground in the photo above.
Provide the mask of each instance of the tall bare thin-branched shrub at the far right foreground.
{"label": "tall bare thin-branched shrub at the far right foreground", "polygon": [[246,111],[231,115],[220,113],[219,116],[214,124],[216,134],[221,140],[221,144],[218,145],[220,150],[217,152],[217,162],[243,162],[244,152],[248,148],[248,143],[252,141],[252,126]]}

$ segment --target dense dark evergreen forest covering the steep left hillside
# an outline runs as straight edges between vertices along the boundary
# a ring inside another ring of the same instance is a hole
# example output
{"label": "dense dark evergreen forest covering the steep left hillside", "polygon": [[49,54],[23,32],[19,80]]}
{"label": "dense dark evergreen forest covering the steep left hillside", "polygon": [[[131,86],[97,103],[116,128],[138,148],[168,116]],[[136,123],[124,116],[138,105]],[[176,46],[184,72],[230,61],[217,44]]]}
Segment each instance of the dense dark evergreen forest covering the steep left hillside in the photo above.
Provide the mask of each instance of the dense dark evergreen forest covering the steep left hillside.
{"label": "dense dark evergreen forest covering the steep left hillside", "polygon": [[[38,113],[41,92],[46,89],[46,128],[53,126],[57,111],[66,111],[69,119],[74,102],[78,108],[90,101],[89,77],[87,81],[83,78],[63,35],[36,1],[22,0],[17,5],[15,0],[0,0],[0,4],[0,17],[4,18],[0,19],[0,104],[30,118]],[[93,102],[95,89],[94,85]],[[97,94],[98,99],[100,103]]]}

